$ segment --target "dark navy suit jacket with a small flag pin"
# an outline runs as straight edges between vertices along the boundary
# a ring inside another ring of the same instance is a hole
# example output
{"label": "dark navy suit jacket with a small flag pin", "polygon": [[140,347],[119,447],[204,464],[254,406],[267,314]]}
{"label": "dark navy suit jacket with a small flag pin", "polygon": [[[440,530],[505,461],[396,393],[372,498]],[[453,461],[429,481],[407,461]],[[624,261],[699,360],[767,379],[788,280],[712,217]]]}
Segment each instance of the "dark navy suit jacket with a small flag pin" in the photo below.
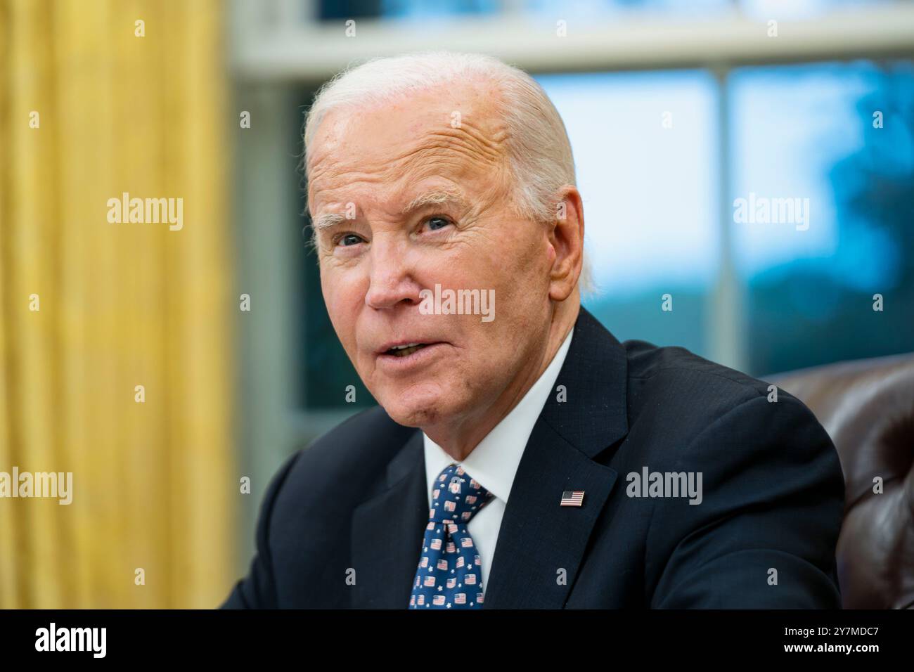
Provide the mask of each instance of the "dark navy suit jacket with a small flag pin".
{"label": "dark navy suit jacket with a small flag pin", "polygon": [[[680,347],[620,343],[581,308],[530,435],[484,608],[840,608],[844,509],[828,434],[799,400]],[[702,475],[702,501],[631,474]],[[560,507],[564,491],[581,507]],[[670,492],[666,493],[670,495]],[[428,522],[422,436],[381,408],[293,454],[223,608],[405,609]]]}

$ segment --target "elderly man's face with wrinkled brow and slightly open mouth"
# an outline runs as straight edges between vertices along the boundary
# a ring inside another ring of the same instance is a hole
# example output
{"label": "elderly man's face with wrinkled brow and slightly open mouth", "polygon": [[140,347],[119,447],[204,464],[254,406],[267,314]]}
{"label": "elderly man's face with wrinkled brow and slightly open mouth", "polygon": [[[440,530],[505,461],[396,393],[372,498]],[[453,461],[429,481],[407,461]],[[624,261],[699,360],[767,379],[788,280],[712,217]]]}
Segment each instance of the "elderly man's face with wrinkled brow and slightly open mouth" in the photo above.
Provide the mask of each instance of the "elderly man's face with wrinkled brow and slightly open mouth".
{"label": "elderly man's face with wrinkled brow and slightly open mouth", "polygon": [[[359,376],[401,424],[473,420],[542,362],[555,252],[547,225],[511,212],[492,95],[423,91],[330,112],[315,133],[308,191],[315,225],[327,225],[324,302]],[[436,284],[494,290],[494,319],[423,314],[420,291]],[[422,346],[389,349],[408,344]]]}

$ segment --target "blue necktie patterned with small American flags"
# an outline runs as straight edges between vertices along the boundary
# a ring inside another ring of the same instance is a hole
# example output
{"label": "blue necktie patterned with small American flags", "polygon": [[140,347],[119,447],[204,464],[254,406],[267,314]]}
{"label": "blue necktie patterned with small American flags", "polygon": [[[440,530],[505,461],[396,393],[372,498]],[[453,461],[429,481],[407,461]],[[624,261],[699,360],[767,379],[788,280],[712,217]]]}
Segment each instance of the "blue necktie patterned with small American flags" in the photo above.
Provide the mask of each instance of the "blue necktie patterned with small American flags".
{"label": "blue necktie patterned with small American flags", "polygon": [[467,524],[492,493],[462,466],[445,467],[432,485],[429,524],[409,596],[410,609],[481,609],[482,562]]}

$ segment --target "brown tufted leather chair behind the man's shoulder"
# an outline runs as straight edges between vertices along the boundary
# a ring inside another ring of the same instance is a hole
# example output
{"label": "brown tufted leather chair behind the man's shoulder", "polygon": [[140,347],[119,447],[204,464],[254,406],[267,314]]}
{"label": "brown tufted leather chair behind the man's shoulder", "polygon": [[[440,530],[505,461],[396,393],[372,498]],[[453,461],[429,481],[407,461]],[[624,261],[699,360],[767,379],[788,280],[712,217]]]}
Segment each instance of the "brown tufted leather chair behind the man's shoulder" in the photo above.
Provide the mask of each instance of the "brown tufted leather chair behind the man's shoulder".
{"label": "brown tufted leather chair behind the man's shoulder", "polygon": [[[845,472],[845,609],[914,608],[914,354],[765,377],[822,422]],[[882,494],[874,493],[881,477]]]}

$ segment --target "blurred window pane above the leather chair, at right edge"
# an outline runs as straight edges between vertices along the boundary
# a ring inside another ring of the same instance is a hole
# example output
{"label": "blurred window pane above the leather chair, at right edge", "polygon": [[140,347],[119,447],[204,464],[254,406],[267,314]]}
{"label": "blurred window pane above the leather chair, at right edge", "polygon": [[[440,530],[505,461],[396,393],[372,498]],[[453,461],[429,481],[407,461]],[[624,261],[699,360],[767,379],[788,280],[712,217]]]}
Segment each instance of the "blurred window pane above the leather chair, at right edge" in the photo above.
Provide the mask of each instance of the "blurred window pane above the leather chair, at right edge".
{"label": "blurred window pane above the leather chair, at right edge", "polygon": [[806,222],[732,223],[751,370],[914,349],[914,66],[739,69],[731,82],[733,197],[808,206]]}

